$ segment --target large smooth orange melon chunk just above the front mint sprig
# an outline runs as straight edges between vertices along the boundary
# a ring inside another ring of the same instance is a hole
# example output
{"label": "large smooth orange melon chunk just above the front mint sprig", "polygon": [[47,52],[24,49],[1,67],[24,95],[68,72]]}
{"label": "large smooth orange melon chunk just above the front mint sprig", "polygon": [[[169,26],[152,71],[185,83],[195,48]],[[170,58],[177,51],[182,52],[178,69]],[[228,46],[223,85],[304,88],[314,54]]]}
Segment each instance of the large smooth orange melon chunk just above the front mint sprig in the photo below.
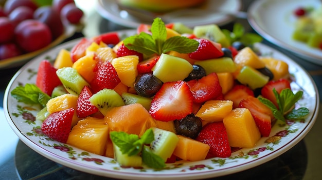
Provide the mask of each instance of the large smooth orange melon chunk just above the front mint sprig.
{"label": "large smooth orange melon chunk just above the front mint sprig", "polygon": [[110,131],[123,131],[141,136],[144,132],[156,127],[154,119],[141,104],[135,103],[110,109],[104,117]]}

